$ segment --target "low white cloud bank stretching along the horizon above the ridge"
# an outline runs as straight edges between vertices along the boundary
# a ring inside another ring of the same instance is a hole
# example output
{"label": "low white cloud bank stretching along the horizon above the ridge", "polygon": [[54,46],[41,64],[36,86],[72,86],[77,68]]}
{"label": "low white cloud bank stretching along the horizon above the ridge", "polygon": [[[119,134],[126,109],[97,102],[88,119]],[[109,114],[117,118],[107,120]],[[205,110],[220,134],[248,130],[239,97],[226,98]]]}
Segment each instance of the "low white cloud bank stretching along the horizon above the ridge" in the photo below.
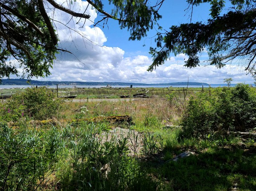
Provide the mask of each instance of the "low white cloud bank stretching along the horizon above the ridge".
{"label": "low white cloud bank stretching along the horizon above the ridge", "polygon": [[[106,50],[102,52],[106,52]],[[171,57],[164,65],[157,67],[153,72],[148,72],[148,66],[152,62],[150,57],[137,55],[123,58],[124,51],[121,49],[115,50],[117,53],[111,54],[115,51],[109,48],[110,52],[103,54],[98,60],[94,60],[94,67],[90,67],[90,69],[86,65],[81,65],[77,60],[65,62],[65,67],[56,65],[56,68],[52,70],[52,77],[60,80],[59,77],[61,76],[61,78],[69,81],[76,81],[79,78],[82,81],[142,83],[181,82],[187,81],[189,77],[190,82],[206,82],[209,84],[222,84],[224,78],[233,78],[234,83],[253,83],[252,77],[246,75],[246,72],[237,65],[226,65],[222,69],[217,69],[215,66],[199,66],[190,69],[183,66],[184,58],[181,59],[181,56],[177,56]],[[118,55],[120,57],[117,59]],[[105,62],[102,62],[103,60]],[[69,68],[68,71],[67,68]]]}

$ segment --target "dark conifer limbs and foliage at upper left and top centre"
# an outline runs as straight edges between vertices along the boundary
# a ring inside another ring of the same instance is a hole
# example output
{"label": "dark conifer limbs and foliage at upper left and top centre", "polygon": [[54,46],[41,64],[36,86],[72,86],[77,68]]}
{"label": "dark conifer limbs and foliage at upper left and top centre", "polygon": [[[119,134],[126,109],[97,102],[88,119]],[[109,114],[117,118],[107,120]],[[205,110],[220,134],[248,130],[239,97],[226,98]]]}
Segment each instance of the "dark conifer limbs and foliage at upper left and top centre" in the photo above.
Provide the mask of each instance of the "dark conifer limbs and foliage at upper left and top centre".
{"label": "dark conifer limbs and foliage at upper left and top centre", "polygon": [[[76,0],[66,1],[76,3]],[[107,3],[114,7],[112,13],[103,10],[102,0],[87,2],[102,16],[94,26],[106,24],[108,19],[115,19],[121,28],[130,31],[130,40],[140,40],[161,18],[157,11],[162,1],[151,5],[148,0],[109,0]],[[10,74],[17,75],[18,68],[24,68],[24,78],[48,76],[55,55],[60,51],[68,51],[58,46],[54,23],[60,21],[48,16],[47,10],[50,9],[90,19],[86,10],[74,12],[58,4],[56,0],[0,0],[0,79],[9,77]],[[17,60],[19,66],[13,65],[12,60]]]}

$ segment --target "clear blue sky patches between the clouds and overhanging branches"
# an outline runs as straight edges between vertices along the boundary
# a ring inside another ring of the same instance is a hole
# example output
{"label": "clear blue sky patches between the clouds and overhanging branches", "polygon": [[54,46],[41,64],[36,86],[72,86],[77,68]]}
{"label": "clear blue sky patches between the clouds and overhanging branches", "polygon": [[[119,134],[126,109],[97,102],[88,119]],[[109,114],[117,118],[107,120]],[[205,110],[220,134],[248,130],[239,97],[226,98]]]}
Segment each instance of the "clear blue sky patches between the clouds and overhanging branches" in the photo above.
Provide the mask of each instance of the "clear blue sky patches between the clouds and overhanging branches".
{"label": "clear blue sky patches between the clouds and overhanging branches", "polygon": [[[153,1],[152,1],[153,3]],[[159,13],[163,16],[162,19],[158,21],[159,25],[165,30],[169,30],[172,25],[179,25],[181,23],[190,22],[190,11],[187,12],[185,9],[188,7],[186,0],[166,0],[163,6],[160,8]],[[192,21],[202,21],[207,20],[209,15],[210,4],[202,4],[200,7],[194,7],[194,13],[192,16]],[[111,10],[109,11],[111,12]],[[117,46],[125,51],[124,56],[130,56],[131,54],[136,54],[138,52],[144,55],[150,56],[148,54],[149,47],[154,46],[154,36],[159,31],[152,29],[147,32],[147,37],[143,38],[141,41],[128,41],[130,37],[129,31],[126,29],[119,29],[118,22],[114,20],[108,21],[108,26],[102,29],[106,35],[108,41],[106,41],[106,46]],[[143,45],[145,45],[143,47]]]}

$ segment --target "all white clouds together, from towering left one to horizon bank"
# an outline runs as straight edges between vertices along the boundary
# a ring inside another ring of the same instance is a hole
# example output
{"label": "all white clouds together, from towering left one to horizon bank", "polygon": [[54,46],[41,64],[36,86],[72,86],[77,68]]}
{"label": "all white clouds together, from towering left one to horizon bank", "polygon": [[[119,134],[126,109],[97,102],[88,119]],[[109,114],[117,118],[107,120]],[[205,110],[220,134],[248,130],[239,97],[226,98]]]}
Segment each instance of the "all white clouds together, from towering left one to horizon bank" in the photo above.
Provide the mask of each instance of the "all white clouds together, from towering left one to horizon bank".
{"label": "all white clouds together, from towering left one to horizon bank", "polygon": [[[187,81],[189,77],[191,82],[209,84],[223,83],[224,78],[233,78],[234,83],[253,83],[252,77],[246,75],[237,65],[229,64],[222,69],[217,69],[215,66],[185,68],[183,66],[187,60],[185,54],[172,56],[164,65],[157,67],[153,72],[148,72],[148,66],[152,63],[151,57],[142,53],[124,57],[125,52],[120,47],[104,45],[107,38],[102,29],[92,25],[97,13],[87,1],[76,0],[72,5],[64,0],[57,2],[76,12],[84,13],[87,8],[86,13],[91,15],[91,18],[90,20],[73,18],[75,20],[70,21],[70,15],[49,6],[47,11],[50,18],[60,21],[55,22],[60,39],[59,46],[73,54],[57,55],[53,69],[50,70],[52,75],[48,78],[38,78],[39,80],[168,83]],[[18,64],[15,60],[12,63]]]}

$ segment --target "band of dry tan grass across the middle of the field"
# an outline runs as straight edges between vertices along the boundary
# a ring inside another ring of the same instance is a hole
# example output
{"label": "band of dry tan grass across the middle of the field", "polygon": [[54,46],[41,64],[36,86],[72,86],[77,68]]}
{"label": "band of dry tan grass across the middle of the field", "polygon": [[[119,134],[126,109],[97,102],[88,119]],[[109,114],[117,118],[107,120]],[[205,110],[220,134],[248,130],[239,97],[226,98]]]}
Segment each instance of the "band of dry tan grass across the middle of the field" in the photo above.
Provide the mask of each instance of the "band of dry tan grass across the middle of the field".
{"label": "band of dry tan grass across the middle of the field", "polygon": [[88,110],[85,118],[97,116],[132,116],[133,122],[139,123],[149,116],[154,116],[162,125],[173,125],[180,118],[180,111],[171,106],[165,98],[148,98],[130,101],[102,100],[99,102],[66,102],[68,108],[63,113],[66,118],[75,118],[81,115],[81,107]]}

